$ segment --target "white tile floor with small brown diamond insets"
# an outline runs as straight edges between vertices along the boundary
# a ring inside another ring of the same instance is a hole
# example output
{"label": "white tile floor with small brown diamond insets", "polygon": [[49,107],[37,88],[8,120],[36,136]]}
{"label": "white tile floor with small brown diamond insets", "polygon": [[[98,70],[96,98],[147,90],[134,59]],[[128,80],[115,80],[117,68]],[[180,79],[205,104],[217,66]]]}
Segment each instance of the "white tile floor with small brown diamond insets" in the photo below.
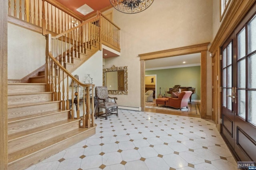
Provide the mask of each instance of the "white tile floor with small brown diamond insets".
{"label": "white tile floor with small brown diamond insets", "polygon": [[96,134],[27,170],[236,170],[208,120],[119,109]]}

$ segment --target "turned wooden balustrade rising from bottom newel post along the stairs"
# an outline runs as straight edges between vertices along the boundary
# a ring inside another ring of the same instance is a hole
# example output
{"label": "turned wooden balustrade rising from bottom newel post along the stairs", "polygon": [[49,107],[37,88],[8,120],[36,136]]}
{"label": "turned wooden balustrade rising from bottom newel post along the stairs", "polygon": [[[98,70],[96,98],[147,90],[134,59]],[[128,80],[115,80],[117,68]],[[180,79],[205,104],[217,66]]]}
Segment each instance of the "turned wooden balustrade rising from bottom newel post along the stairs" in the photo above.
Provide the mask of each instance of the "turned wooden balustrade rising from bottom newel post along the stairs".
{"label": "turned wooden balustrade rising from bottom newel post along the stairs", "polygon": [[[82,127],[94,126],[94,94],[92,92],[92,101],[90,104],[90,88],[94,84],[83,84],[77,80],[65,67],[67,63],[74,63],[75,59],[82,59],[81,55],[96,45],[100,40],[99,27],[96,23],[100,20],[100,15],[88,20],[80,25],[69,29],[57,36],[46,35],[46,64],[45,64],[45,82],[46,89],[54,92],[54,100],[61,100],[62,109],[70,109],[69,88],[74,86],[74,82],[82,88],[83,96],[80,97],[78,88],[77,96],[77,116],[80,118],[79,100],[83,100],[83,125]],[[71,85],[69,81],[71,82]],[[71,118],[74,119],[74,89],[72,88],[72,108]],[[92,106],[92,116],[90,115],[90,106]],[[86,112],[85,112],[86,108]]]}

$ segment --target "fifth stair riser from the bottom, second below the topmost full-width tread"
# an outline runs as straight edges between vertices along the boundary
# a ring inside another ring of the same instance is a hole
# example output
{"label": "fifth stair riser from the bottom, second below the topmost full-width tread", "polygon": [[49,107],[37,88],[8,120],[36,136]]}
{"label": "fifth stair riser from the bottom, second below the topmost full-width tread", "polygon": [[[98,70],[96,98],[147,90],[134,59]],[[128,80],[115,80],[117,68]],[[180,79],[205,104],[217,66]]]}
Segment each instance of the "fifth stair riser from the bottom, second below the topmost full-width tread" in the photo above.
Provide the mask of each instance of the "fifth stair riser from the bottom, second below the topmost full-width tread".
{"label": "fifth stair riser from the bottom, second below the topmost full-width tread", "polygon": [[50,102],[52,101],[52,93],[45,94],[24,94],[10,96],[8,95],[8,105],[28,104],[33,102]]}

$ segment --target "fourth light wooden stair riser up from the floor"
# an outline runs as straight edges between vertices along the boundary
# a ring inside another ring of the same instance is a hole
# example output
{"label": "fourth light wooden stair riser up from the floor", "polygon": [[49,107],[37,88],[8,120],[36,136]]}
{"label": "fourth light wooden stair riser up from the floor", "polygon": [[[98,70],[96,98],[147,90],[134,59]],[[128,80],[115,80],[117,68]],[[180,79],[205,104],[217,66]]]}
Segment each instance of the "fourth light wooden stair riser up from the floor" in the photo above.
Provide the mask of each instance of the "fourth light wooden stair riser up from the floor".
{"label": "fourth light wooden stair riser up from the floor", "polygon": [[31,105],[8,108],[8,121],[15,121],[22,118],[37,116],[48,111],[55,111],[60,108],[60,102],[50,102],[44,105]]}

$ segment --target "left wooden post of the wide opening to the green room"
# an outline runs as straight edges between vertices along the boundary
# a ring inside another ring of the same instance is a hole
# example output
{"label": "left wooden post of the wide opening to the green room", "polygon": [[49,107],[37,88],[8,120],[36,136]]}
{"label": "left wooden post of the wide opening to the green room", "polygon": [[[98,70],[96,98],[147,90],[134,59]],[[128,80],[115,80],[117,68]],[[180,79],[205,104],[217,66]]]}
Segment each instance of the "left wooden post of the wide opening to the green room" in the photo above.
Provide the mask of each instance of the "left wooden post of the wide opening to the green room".
{"label": "left wooden post of the wide opening to the green room", "polygon": [[145,110],[145,60],[140,61],[140,106],[141,111]]}

